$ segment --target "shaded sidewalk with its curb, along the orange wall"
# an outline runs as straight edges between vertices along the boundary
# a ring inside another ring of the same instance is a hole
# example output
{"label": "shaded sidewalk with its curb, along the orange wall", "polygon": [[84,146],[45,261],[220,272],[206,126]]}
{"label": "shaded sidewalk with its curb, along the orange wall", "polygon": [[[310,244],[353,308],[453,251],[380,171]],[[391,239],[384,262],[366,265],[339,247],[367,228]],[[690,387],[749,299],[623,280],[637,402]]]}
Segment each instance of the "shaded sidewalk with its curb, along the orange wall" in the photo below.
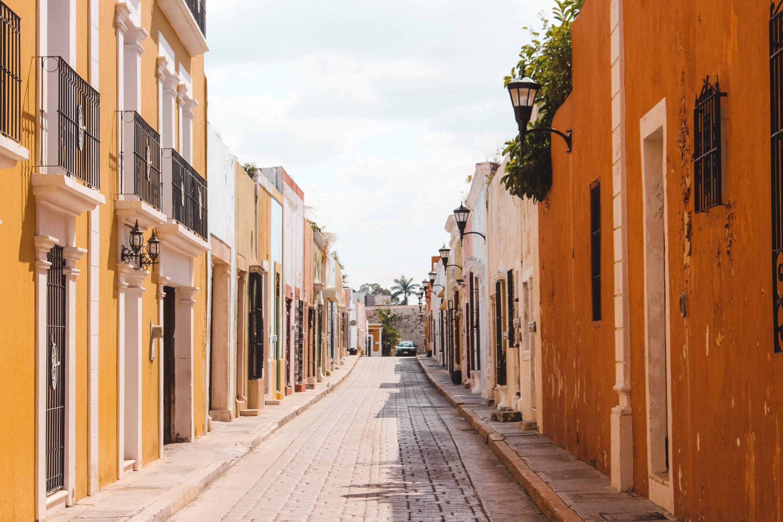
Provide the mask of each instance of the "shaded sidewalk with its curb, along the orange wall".
{"label": "shaded sidewalk with its curb, along the orange wall", "polygon": [[575,459],[538,431],[521,430],[519,423],[489,420],[497,410],[487,407],[481,395],[452,384],[449,373],[435,359],[418,359],[430,382],[484,437],[549,520],[677,520],[640,495],[615,490],[604,473]]}

